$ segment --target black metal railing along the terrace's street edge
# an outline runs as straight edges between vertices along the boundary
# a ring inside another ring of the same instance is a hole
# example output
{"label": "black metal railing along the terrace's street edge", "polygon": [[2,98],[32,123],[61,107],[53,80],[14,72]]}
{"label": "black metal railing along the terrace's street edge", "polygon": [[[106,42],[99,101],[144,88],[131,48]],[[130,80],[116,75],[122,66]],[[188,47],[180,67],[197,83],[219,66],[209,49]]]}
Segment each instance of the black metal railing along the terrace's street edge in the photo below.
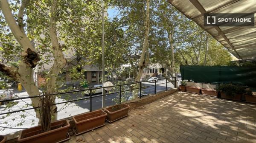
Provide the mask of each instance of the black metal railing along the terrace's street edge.
{"label": "black metal railing along the terrace's street edge", "polygon": [[[104,94],[104,95],[101,94],[101,95],[94,95],[94,96],[92,96],[92,90],[103,89],[103,88],[106,88],[106,87],[98,87],[98,88],[93,88],[93,89],[90,88],[90,89],[84,89],[84,90],[73,90],[73,91],[68,91],[68,92],[64,92],[64,93],[54,93],[54,94],[51,94],[51,95],[62,95],[62,94],[67,94],[67,93],[77,93],[77,92],[83,92],[83,91],[90,90],[90,94],[89,94],[90,96],[89,97],[84,97],[84,98],[79,98],[79,99],[74,99],[74,100],[68,100],[68,101],[64,101],[64,102],[58,102],[58,103],[55,103],[55,104],[52,104],[52,105],[65,104],[65,103],[69,103],[69,102],[90,99],[90,112],[92,112],[92,98],[96,98],[96,97],[100,97],[100,96],[105,96],[105,95],[111,95],[111,94],[115,94],[115,93],[118,94],[119,93],[119,103],[121,103],[121,101],[122,101],[121,100],[122,99],[122,93],[123,92],[140,89],[139,98],[141,98],[142,97],[142,89],[143,88],[154,86],[154,94],[156,94],[157,93],[157,88],[156,87],[157,87],[157,85],[160,85],[160,84],[166,84],[166,90],[168,89],[168,87],[167,87],[168,83],[173,83],[174,88],[176,88],[176,82],[181,80],[181,79],[177,79],[179,77],[181,77],[181,76],[173,77],[172,79],[174,79],[174,80],[172,80],[172,81],[168,81],[168,79],[171,79],[171,78],[163,78],[163,79],[151,80],[151,81],[154,81],[154,85],[149,85],[149,86],[142,86],[142,83],[148,82],[148,81],[140,81],[140,82],[133,82],[133,83],[128,83],[128,84],[119,84],[119,85],[108,86],[108,87],[119,87],[119,91],[113,92],[113,93],[109,93],[109,94]],[[157,84],[157,80],[164,80],[164,79],[166,79],[166,82]],[[140,87],[132,88],[132,89],[128,89],[128,90],[122,90],[123,86],[131,85],[131,84],[140,84]],[[11,99],[0,100],[0,102],[16,101],[16,100],[23,100],[23,99],[28,99],[28,98],[38,98],[38,97],[41,97],[41,96],[44,96],[44,95],[11,98]],[[15,110],[15,111],[3,112],[3,113],[0,113],[0,115],[12,114],[12,113],[15,113],[15,112],[23,112],[23,111],[26,111],[26,110],[37,109],[37,108],[40,108],[40,107],[31,107],[31,108],[20,109],[20,110]]]}

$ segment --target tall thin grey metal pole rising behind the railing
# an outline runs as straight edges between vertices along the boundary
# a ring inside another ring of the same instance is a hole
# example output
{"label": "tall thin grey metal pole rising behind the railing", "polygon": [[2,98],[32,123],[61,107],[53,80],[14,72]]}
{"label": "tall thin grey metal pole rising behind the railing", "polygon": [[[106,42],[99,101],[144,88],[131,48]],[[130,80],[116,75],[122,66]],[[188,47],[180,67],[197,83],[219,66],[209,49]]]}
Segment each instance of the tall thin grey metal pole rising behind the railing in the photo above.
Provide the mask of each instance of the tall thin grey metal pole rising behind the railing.
{"label": "tall thin grey metal pole rising behind the railing", "polygon": [[[105,83],[105,39],[104,39],[104,3],[102,2],[102,85]],[[105,107],[105,89],[102,89],[102,107]]]}

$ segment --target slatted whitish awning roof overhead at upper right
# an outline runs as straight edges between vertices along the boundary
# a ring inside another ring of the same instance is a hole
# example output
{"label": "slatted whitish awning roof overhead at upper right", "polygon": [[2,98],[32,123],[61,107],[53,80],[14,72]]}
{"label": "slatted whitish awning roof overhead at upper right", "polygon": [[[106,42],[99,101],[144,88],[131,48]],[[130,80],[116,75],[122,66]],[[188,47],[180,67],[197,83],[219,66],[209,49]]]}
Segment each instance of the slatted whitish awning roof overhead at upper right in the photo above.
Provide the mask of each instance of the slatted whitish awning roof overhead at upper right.
{"label": "slatted whitish awning roof overhead at upper right", "polygon": [[[204,26],[204,14],[255,13],[256,0],[168,0],[238,59],[256,58],[256,27]],[[255,17],[255,15],[254,15]],[[256,17],[254,18],[256,21]],[[255,22],[254,21],[254,25]]]}

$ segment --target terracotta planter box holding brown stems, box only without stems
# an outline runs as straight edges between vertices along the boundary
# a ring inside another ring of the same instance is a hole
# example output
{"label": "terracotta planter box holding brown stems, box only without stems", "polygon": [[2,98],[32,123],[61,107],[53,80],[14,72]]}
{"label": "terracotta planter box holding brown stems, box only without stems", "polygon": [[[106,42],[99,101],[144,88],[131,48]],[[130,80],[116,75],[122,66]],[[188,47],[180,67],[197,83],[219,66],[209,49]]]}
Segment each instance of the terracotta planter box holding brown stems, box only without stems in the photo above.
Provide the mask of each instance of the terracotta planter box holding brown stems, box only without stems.
{"label": "terracotta planter box holding brown stems, box only without stems", "polygon": [[67,130],[70,124],[67,120],[51,123],[52,130],[42,132],[41,126],[24,129],[18,138],[18,143],[57,143],[67,138]]}

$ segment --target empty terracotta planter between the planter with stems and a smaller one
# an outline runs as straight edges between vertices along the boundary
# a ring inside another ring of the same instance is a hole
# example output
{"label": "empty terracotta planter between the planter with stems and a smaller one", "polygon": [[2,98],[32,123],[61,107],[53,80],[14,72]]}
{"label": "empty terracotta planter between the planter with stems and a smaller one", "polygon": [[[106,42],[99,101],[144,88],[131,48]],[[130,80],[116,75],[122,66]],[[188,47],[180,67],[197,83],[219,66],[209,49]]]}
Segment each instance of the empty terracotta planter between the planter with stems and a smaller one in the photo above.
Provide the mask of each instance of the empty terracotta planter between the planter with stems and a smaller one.
{"label": "empty terracotta planter between the planter with stems and a smaller one", "polygon": [[74,116],[73,120],[75,121],[77,133],[80,134],[100,126],[104,126],[106,116],[107,113],[105,113],[103,110],[97,110]]}

